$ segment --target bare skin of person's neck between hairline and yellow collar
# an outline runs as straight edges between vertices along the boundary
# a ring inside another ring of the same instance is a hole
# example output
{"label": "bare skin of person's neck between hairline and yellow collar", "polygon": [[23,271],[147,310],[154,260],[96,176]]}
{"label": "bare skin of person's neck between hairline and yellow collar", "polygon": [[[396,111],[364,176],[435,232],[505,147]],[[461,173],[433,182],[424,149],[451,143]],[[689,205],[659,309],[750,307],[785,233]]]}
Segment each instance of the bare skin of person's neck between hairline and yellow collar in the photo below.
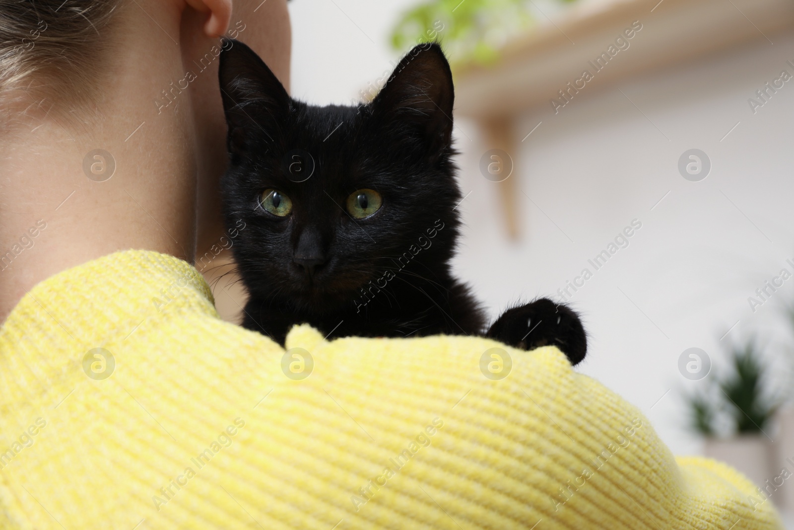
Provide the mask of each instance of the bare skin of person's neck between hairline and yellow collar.
{"label": "bare skin of person's neck between hairline and yellow collar", "polygon": [[[179,24],[153,14],[163,31],[152,32],[144,30],[148,14],[125,15],[140,27],[125,32],[112,57],[123,66],[109,72],[95,106],[80,118],[64,118],[68,111],[56,118],[58,103],[31,99],[16,132],[0,137],[0,322],[41,280],[117,250],[193,260],[191,102],[186,92],[160,114],[153,103],[184,72],[172,41]],[[110,159],[87,157],[95,149],[114,161],[107,180]]]}

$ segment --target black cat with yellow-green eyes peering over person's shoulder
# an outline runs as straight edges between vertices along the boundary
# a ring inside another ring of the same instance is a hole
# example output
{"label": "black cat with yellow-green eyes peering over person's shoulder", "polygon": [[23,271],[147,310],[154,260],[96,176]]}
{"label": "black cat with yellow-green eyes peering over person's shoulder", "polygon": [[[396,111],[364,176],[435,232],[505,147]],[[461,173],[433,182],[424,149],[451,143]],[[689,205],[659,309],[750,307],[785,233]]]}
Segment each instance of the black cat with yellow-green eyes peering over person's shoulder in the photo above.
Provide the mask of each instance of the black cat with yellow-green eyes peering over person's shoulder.
{"label": "black cat with yellow-green eyes peering over person's shoulder", "polygon": [[[229,126],[225,221],[250,299],[243,326],[283,343],[310,323],[341,337],[482,335],[484,311],[450,273],[461,224],[452,157],[453,80],[420,44],[372,103],[311,106],[287,95],[256,53],[224,47]],[[576,364],[587,341],[547,299],[505,311],[484,334]]]}

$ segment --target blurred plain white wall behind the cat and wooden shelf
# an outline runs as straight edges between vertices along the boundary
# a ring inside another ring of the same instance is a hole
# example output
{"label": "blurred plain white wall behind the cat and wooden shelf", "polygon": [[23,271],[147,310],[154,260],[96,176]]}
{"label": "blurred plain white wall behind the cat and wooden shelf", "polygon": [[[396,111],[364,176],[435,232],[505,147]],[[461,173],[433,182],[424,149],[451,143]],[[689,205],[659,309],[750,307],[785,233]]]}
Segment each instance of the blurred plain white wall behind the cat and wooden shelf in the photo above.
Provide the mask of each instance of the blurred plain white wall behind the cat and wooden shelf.
{"label": "blurred plain white wall behind the cat and wooden shelf", "polygon": [[[412,3],[291,2],[293,95],[349,103],[391,68],[398,54],[387,34]],[[684,427],[681,392],[701,384],[679,373],[685,349],[702,348],[719,370],[730,340],[755,333],[777,382],[792,382],[794,336],[780,306],[794,301],[794,278],[755,312],[747,300],[782,268],[794,272],[786,263],[794,262],[794,82],[756,114],[747,103],[781,70],[794,73],[786,64],[794,36],[769,37],[774,45],[759,35],[617,87],[592,87],[557,115],[550,106],[523,114],[518,141],[542,125],[515,153],[520,171],[511,178],[526,193],[518,196],[518,243],[507,240],[494,184],[480,175],[486,148],[476,124],[458,122],[461,187],[471,194],[455,265],[491,317],[518,300],[557,296],[582,269],[594,270],[588,259],[633,219],[642,222],[630,246],[572,296],[590,336],[580,371],[640,408],[679,454],[700,452]],[[710,157],[705,180],[680,175],[688,149]]]}

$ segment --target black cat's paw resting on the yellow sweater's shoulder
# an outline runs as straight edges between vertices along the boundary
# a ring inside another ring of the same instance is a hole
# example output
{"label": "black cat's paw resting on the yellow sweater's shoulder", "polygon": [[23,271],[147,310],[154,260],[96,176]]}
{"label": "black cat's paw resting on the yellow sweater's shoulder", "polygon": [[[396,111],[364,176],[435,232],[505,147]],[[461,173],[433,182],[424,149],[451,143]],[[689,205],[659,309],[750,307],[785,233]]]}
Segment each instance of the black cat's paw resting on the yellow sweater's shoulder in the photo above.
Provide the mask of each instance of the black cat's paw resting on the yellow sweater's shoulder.
{"label": "black cat's paw resting on the yellow sweater's shoulder", "polygon": [[572,365],[581,362],[588,349],[579,315],[548,298],[504,311],[486,336],[522,350],[557,346]]}

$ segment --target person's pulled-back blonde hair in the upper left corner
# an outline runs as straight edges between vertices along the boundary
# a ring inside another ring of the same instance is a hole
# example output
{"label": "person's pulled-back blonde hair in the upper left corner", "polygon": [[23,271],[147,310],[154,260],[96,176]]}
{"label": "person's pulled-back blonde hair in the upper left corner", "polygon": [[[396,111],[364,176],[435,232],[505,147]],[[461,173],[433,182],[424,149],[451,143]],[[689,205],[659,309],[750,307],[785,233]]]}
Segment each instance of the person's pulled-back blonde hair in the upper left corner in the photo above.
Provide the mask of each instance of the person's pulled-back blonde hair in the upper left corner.
{"label": "person's pulled-back blonde hair in the upper left corner", "polygon": [[[91,99],[122,0],[0,0],[0,108]],[[27,103],[25,103],[27,100]]]}

